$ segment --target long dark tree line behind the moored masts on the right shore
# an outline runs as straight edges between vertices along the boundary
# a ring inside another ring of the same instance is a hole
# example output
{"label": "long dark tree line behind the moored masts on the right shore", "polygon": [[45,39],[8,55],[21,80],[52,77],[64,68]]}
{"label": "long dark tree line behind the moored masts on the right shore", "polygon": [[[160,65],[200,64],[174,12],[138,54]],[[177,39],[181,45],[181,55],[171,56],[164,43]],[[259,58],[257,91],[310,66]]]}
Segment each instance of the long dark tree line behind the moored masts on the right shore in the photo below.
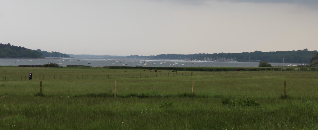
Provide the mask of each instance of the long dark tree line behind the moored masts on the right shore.
{"label": "long dark tree line behind the moored masts on the right shore", "polygon": [[285,63],[310,63],[317,51],[292,50],[292,51],[276,51],[276,52],[242,52],[242,53],[214,53],[214,54],[161,54],[156,56],[138,56],[130,55],[127,58],[142,57],[145,59],[174,59],[174,60],[198,60],[198,61],[218,61],[232,60],[238,62],[284,62]]}

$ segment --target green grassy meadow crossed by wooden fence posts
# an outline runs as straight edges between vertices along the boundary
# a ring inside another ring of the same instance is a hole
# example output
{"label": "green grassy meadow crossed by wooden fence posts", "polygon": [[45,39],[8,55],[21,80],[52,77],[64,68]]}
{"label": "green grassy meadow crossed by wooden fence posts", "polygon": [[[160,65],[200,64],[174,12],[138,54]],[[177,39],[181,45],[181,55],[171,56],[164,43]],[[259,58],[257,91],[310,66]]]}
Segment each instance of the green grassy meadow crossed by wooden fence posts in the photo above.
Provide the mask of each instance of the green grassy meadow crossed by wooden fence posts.
{"label": "green grassy meadow crossed by wooden fence posts", "polygon": [[0,66],[0,129],[318,129],[317,78]]}

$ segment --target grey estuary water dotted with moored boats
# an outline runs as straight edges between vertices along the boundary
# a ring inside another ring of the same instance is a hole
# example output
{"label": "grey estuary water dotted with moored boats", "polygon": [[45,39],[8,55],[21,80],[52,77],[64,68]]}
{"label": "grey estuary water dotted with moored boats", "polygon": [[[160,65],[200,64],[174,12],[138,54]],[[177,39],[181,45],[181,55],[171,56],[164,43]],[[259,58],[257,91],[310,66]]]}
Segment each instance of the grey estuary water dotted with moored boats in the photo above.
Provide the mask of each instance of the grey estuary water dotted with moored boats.
{"label": "grey estuary water dotted with moored boats", "polygon": [[[19,60],[19,61],[18,61]],[[47,63],[61,63],[60,66],[66,65],[89,65],[93,67],[103,66],[123,66],[122,64],[128,64],[128,66],[146,66],[146,67],[257,67],[259,62],[204,62],[204,61],[177,61],[177,60],[135,60],[135,59],[110,59],[110,58],[87,58],[87,57],[73,57],[73,58],[40,58],[40,59],[17,59],[17,58],[0,58],[0,66],[18,66],[18,65],[43,65]],[[88,64],[88,63],[91,64]],[[140,62],[147,62],[145,63]],[[160,62],[166,62],[160,64]],[[173,65],[177,62],[177,65]],[[114,64],[113,64],[114,63]],[[152,64],[156,63],[156,64]],[[195,63],[195,64],[193,64]],[[171,66],[169,66],[171,64]],[[182,65],[184,64],[184,65]],[[283,63],[270,63],[272,66],[282,66]],[[289,64],[300,63],[284,63],[285,66]]]}

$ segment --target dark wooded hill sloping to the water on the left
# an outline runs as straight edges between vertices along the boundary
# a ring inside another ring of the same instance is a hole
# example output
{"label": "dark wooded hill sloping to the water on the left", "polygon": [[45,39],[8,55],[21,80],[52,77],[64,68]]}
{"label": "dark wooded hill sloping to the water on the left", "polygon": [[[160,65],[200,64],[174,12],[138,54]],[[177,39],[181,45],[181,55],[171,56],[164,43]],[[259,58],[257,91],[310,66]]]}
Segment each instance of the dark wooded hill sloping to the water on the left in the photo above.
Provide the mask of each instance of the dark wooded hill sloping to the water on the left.
{"label": "dark wooded hill sloping to the water on the left", "polygon": [[38,50],[27,49],[25,47],[13,46],[10,43],[2,44],[0,43],[0,57],[1,58],[43,58],[43,57],[70,57],[66,54],[61,54],[60,52],[47,52]]}

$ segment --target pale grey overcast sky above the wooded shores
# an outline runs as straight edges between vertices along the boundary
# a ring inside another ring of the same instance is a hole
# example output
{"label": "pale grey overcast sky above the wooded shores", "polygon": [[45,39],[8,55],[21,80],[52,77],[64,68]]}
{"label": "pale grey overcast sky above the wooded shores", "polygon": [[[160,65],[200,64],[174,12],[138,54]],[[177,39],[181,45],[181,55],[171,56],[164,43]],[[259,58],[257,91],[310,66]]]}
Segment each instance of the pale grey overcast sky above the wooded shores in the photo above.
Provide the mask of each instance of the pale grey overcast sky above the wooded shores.
{"label": "pale grey overcast sky above the wooded shores", "polygon": [[0,43],[91,55],[317,50],[318,0],[0,0]]}

